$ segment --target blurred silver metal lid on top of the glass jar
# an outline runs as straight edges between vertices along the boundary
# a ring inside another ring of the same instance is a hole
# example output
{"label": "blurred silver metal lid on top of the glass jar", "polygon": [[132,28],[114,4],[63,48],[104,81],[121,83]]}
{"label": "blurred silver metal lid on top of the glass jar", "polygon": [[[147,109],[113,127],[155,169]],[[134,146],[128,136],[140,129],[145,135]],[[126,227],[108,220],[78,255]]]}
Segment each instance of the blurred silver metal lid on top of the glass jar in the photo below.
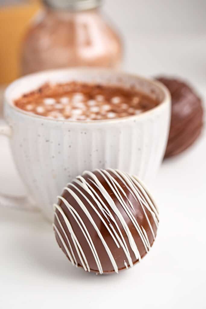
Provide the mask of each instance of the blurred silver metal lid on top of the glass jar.
{"label": "blurred silver metal lid on top of the glass jar", "polygon": [[83,11],[100,6],[102,0],[43,0],[43,2],[53,9]]}

